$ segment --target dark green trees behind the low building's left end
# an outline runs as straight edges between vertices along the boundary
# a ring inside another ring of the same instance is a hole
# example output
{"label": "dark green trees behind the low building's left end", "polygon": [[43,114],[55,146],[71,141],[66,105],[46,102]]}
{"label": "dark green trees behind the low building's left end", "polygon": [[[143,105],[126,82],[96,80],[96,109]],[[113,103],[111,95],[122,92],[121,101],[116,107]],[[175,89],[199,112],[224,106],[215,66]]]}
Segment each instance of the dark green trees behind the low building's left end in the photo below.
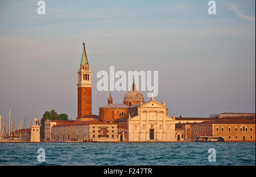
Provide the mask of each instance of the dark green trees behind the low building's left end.
{"label": "dark green trees behind the low building's left end", "polygon": [[46,120],[68,120],[68,115],[65,113],[61,113],[60,115],[58,115],[54,109],[52,109],[52,111],[44,112],[43,117],[41,119],[41,129],[40,129],[40,137],[42,139],[44,139],[44,122]]}

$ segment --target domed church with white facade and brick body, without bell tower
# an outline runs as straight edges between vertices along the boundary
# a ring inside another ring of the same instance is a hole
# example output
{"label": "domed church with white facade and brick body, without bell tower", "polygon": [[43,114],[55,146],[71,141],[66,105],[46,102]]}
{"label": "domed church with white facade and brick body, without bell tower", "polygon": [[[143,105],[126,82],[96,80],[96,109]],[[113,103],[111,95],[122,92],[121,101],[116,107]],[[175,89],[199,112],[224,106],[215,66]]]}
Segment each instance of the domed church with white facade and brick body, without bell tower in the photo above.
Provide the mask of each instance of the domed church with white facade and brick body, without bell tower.
{"label": "domed church with white facade and brick body, without bell tower", "polygon": [[175,118],[167,113],[164,100],[159,103],[152,96],[151,100],[144,102],[144,96],[136,89],[135,83],[124,96],[123,103],[113,104],[110,94],[108,105],[100,107],[101,121],[118,124],[119,141],[176,141]]}

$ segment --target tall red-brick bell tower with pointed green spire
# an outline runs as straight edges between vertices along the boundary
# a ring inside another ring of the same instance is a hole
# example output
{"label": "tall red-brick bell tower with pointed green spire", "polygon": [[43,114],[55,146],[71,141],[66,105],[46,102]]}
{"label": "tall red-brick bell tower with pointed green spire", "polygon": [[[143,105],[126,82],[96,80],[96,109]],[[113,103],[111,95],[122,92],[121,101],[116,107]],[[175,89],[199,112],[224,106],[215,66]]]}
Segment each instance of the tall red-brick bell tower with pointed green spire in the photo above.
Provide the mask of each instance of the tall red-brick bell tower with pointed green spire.
{"label": "tall red-brick bell tower with pointed green spire", "polygon": [[77,118],[85,115],[92,115],[92,82],[91,71],[85,51],[82,52],[80,68],[77,72]]}

